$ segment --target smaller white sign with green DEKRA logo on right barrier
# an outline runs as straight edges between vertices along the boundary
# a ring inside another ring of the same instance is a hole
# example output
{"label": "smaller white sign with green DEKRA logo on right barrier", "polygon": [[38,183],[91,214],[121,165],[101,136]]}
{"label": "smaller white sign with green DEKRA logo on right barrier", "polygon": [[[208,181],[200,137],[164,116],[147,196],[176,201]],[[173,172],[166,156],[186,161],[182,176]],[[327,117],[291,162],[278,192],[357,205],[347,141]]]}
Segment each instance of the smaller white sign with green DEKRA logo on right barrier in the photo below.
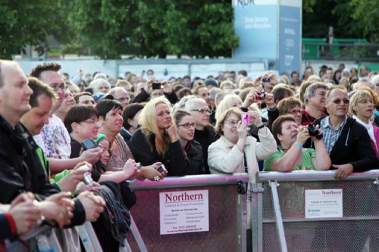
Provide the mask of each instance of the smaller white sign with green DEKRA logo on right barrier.
{"label": "smaller white sign with green DEKRA logo on right barrier", "polygon": [[305,218],[343,217],[342,189],[305,190]]}

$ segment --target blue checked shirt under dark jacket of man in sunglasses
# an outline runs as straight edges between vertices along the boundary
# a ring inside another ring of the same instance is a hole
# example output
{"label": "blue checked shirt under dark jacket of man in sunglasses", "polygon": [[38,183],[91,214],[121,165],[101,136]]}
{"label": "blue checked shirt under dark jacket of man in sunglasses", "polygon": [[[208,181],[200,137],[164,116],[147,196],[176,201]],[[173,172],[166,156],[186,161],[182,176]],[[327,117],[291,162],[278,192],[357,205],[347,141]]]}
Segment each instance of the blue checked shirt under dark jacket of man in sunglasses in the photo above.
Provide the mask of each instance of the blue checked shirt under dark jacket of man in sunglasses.
{"label": "blue checked shirt under dark jacket of man in sunglasses", "polygon": [[324,142],[325,149],[327,153],[330,155],[331,150],[336,144],[338,138],[342,133],[342,129],[346,124],[348,116],[345,116],[345,120],[341,123],[341,125],[335,130],[330,125],[329,116],[326,116],[320,121],[320,129],[322,130],[322,142]]}

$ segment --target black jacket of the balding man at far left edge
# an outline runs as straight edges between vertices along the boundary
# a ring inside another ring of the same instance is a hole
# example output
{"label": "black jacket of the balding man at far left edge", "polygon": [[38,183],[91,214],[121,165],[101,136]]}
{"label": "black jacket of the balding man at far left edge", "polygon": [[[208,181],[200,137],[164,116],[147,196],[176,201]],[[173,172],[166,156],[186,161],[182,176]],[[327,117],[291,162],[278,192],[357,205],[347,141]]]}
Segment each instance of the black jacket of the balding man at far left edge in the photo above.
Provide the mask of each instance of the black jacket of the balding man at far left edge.
{"label": "black jacket of the balding man at far left edge", "polygon": [[[0,116],[0,203],[10,204],[21,192],[31,192],[38,201],[59,191],[49,183],[36,153],[37,144],[29,131],[18,123],[12,126]],[[70,226],[85,220],[85,211],[75,200]]]}

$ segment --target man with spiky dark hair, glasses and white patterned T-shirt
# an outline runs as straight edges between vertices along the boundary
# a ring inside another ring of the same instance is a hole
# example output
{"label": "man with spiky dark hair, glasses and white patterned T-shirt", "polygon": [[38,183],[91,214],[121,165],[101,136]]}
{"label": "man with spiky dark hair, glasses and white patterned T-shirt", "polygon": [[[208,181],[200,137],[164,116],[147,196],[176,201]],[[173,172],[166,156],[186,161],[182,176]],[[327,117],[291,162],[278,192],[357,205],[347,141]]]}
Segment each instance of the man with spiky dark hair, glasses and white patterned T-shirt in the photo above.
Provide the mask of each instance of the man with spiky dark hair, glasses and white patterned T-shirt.
{"label": "man with spiky dark hair, glasses and white patterned T-shirt", "polygon": [[53,88],[57,95],[57,100],[51,109],[49,123],[43,126],[40,134],[33,137],[38,146],[42,149],[44,155],[49,158],[52,172],[72,169],[81,161],[94,163],[102,154],[102,150],[96,148],[84,151],[79,158],[70,159],[70,135],[62,120],[54,114],[62,105],[66,89],[64,79],[58,72],[60,69],[61,66],[59,64],[52,62],[49,64],[37,65],[30,73],[31,77],[35,77]]}

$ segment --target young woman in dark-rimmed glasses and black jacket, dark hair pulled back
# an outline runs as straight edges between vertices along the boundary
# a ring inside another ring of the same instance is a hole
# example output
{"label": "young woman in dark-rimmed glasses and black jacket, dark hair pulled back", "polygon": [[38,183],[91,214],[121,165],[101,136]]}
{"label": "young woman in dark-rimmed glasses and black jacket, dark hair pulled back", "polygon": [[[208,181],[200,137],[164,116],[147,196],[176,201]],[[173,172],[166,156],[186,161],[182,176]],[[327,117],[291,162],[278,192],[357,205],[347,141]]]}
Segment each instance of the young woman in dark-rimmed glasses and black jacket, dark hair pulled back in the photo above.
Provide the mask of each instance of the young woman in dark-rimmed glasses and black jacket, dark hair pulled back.
{"label": "young woman in dark-rimmed glasses and black jacket, dark hair pulled back", "polygon": [[194,141],[194,117],[188,111],[179,109],[175,111],[173,118],[181,147],[185,153],[185,160],[189,164],[186,175],[204,174],[203,150],[200,143]]}

